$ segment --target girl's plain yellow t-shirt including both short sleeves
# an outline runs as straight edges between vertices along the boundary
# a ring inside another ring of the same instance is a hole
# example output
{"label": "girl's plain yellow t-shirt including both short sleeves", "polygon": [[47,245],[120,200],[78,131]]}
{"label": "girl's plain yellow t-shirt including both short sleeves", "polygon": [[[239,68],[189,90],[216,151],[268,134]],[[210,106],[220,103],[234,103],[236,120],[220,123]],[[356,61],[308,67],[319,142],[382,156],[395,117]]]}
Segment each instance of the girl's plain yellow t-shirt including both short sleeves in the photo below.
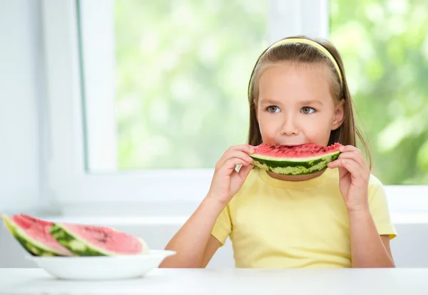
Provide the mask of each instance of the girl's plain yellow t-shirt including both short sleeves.
{"label": "girl's plain yellow t-shirt including both short sleeves", "polygon": [[[396,236],[382,183],[371,175],[369,204],[379,234]],[[233,244],[235,267],[350,267],[350,224],[338,170],[287,182],[253,168],[212,232]]]}

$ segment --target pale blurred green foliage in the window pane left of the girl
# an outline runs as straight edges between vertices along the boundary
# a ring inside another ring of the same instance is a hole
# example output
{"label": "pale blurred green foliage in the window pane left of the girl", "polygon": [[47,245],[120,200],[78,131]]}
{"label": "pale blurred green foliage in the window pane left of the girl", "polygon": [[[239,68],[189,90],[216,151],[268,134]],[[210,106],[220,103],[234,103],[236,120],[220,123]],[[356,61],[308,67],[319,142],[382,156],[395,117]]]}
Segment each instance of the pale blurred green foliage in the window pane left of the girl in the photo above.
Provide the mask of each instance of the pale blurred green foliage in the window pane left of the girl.
{"label": "pale blurred green foliage in the window pane left of the girl", "polygon": [[245,143],[267,1],[116,1],[118,167],[213,167]]}

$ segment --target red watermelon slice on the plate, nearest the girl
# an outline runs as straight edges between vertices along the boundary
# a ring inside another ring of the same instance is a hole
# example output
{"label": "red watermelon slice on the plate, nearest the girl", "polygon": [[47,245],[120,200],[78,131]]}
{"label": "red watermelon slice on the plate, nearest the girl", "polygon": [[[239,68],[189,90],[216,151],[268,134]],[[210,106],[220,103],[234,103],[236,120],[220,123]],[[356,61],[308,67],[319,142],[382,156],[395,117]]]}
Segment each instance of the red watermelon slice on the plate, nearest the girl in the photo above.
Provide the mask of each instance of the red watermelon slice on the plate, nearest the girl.
{"label": "red watermelon slice on the plate, nearest the girl", "polygon": [[55,239],[78,256],[116,256],[148,253],[143,239],[111,227],[56,223],[51,227]]}

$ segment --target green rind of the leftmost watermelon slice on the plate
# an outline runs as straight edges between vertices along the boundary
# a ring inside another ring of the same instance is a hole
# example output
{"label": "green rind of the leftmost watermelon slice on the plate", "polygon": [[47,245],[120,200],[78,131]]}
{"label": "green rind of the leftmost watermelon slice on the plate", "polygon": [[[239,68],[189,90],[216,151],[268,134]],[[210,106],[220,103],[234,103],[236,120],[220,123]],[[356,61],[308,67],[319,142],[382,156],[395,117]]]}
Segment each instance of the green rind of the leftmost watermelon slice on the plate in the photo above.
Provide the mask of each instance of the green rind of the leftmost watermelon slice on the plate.
{"label": "green rind of the leftmost watermelon slice on the plate", "polygon": [[24,231],[22,231],[18,224],[16,224],[8,216],[2,214],[1,217],[6,224],[6,227],[9,229],[9,232],[15,237],[15,239],[21,244],[27,252],[36,256],[43,257],[54,257],[54,256],[64,256],[62,253],[57,252],[55,249],[46,247],[44,244],[41,244],[34,239],[31,239]]}

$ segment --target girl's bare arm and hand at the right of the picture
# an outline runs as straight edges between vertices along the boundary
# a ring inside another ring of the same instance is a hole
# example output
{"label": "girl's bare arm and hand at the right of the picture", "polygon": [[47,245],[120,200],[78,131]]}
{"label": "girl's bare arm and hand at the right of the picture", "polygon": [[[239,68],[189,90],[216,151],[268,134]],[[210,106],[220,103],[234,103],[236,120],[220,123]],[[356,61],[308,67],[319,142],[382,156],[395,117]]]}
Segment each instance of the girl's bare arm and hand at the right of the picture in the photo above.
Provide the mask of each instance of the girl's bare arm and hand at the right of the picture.
{"label": "girl's bare arm and hand at the right of the picture", "polygon": [[389,239],[380,237],[370,213],[370,170],[362,152],[352,145],[340,148],[328,167],[339,168],[340,192],[350,219],[352,267],[395,267]]}

